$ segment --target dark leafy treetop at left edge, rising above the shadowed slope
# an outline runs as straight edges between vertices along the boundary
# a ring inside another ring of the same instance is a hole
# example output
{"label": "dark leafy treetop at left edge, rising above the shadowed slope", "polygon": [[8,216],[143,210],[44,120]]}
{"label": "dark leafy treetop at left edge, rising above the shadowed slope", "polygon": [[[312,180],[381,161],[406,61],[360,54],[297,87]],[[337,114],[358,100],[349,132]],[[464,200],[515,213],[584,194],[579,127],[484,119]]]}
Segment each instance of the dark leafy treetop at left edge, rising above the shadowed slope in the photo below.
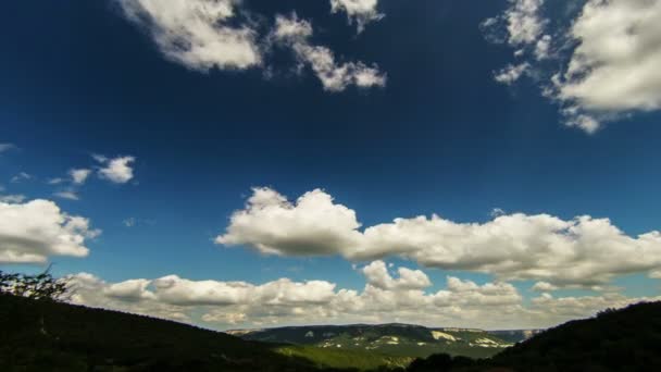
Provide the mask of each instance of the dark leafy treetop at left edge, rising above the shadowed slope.
{"label": "dark leafy treetop at left edge, rising above the shadowed slope", "polygon": [[65,278],[54,278],[50,266],[42,273],[28,275],[0,271],[0,294],[27,297],[35,300],[66,300],[70,284]]}

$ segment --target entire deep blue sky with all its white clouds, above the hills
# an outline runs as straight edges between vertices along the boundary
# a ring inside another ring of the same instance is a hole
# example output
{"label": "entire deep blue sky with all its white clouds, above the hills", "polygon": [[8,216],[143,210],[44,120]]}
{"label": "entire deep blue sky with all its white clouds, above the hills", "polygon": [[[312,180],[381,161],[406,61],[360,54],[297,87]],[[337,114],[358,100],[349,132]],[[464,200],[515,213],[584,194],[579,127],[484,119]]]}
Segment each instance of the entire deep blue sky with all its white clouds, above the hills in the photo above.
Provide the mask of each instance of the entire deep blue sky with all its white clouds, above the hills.
{"label": "entire deep blue sky with all its white clouds, above the hills", "polygon": [[93,0],[0,15],[0,270],[227,330],[661,299],[661,2]]}

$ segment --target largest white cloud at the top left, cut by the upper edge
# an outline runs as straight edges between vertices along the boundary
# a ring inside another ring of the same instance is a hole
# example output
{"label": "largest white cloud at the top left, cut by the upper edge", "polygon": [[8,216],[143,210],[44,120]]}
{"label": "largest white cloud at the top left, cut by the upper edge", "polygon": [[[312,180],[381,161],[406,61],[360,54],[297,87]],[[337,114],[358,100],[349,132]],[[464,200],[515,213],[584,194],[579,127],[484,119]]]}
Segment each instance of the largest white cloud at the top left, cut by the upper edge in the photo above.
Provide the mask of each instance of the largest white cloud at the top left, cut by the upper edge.
{"label": "largest white cloud at the top left, cut by the upper edge", "polygon": [[245,70],[261,64],[257,32],[238,16],[240,0],[117,1],[167,59],[188,69]]}

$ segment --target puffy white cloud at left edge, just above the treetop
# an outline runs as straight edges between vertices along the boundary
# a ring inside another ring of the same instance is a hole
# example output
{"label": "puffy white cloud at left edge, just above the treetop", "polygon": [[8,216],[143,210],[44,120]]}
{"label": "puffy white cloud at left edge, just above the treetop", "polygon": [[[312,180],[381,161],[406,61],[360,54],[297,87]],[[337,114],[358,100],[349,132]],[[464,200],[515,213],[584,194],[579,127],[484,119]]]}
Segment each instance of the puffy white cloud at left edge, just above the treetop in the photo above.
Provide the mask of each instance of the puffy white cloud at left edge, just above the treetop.
{"label": "puffy white cloud at left edge, just above the treetop", "polygon": [[40,263],[51,256],[86,257],[100,231],[49,200],[0,202],[0,263]]}

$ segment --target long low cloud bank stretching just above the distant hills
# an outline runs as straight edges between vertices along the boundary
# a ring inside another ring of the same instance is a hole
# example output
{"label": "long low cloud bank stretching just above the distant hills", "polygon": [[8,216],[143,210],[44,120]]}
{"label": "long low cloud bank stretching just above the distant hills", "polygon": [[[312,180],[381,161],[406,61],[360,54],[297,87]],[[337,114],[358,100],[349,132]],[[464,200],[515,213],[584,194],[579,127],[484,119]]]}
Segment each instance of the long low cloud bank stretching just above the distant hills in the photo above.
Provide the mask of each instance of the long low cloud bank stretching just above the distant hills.
{"label": "long low cloud bank stretching just above the distant hills", "polygon": [[[264,284],[191,281],[177,275],[107,283],[91,274],[70,276],[73,302],[204,326],[276,326],[319,323],[407,322],[438,326],[485,328],[546,327],[606,308],[623,307],[653,298],[628,298],[610,293],[575,298],[542,294],[524,305],[509,283],[477,284],[453,276],[436,293],[419,270],[397,268],[395,280],[385,263],[363,268],[362,292],[338,288],[327,281],[294,282],[279,278]],[[415,280],[409,274],[414,273]],[[423,278],[420,281],[420,278]]]}

